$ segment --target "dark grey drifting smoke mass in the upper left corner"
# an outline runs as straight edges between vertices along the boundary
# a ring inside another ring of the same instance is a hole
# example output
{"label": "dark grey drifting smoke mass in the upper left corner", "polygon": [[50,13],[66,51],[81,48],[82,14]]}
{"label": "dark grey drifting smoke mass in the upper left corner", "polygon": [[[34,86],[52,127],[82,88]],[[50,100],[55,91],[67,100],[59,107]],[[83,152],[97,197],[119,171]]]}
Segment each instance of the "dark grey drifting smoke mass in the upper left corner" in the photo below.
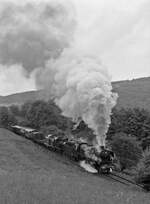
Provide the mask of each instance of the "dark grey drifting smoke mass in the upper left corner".
{"label": "dark grey drifting smoke mass in the upper left corner", "polygon": [[2,1],[0,63],[20,64],[26,75],[69,46],[74,10],[59,1]]}

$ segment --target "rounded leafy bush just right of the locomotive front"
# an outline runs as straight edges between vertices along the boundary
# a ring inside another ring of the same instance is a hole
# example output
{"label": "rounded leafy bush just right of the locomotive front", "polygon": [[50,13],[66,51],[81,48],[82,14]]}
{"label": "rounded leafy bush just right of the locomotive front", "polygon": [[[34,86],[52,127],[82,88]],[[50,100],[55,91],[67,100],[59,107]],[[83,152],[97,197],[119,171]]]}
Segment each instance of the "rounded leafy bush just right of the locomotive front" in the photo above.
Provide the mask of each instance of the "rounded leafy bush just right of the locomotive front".
{"label": "rounded leafy bush just right of the locomotive front", "polygon": [[118,133],[111,141],[112,150],[119,159],[121,170],[136,166],[142,157],[142,150],[134,137]]}

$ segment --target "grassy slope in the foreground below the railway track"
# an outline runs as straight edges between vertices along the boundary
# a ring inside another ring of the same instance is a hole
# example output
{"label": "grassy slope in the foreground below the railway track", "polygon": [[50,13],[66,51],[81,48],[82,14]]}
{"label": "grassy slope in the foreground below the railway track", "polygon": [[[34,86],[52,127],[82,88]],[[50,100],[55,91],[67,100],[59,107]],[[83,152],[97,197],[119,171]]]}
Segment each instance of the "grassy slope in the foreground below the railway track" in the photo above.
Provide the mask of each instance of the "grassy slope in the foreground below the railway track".
{"label": "grassy slope in the foreground below the railway track", "polygon": [[149,198],[0,129],[0,204],[148,204]]}

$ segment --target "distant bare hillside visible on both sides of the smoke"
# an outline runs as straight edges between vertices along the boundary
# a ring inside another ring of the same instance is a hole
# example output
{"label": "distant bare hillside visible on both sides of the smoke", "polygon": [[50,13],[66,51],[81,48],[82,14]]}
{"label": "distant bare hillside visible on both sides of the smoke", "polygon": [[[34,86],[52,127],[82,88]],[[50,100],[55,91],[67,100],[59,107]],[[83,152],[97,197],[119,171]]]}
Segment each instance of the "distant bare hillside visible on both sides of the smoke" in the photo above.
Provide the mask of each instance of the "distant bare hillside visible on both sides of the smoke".
{"label": "distant bare hillside visible on both sides of the smoke", "polygon": [[[113,91],[119,95],[117,107],[140,107],[150,110],[150,77],[113,82]],[[0,105],[21,104],[25,101],[48,99],[43,91],[30,91],[0,96]]]}

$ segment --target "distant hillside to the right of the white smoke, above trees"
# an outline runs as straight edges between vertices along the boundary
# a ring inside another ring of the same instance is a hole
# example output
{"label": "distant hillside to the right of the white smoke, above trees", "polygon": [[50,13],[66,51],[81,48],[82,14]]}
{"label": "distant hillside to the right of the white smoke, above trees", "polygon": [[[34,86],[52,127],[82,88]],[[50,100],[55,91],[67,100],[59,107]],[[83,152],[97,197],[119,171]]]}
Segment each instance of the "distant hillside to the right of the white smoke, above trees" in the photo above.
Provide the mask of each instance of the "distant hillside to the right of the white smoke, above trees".
{"label": "distant hillside to the right of the white smoke, above trees", "polygon": [[150,110],[150,77],[113,82],[119,95],[117,107],[140,107]]}

